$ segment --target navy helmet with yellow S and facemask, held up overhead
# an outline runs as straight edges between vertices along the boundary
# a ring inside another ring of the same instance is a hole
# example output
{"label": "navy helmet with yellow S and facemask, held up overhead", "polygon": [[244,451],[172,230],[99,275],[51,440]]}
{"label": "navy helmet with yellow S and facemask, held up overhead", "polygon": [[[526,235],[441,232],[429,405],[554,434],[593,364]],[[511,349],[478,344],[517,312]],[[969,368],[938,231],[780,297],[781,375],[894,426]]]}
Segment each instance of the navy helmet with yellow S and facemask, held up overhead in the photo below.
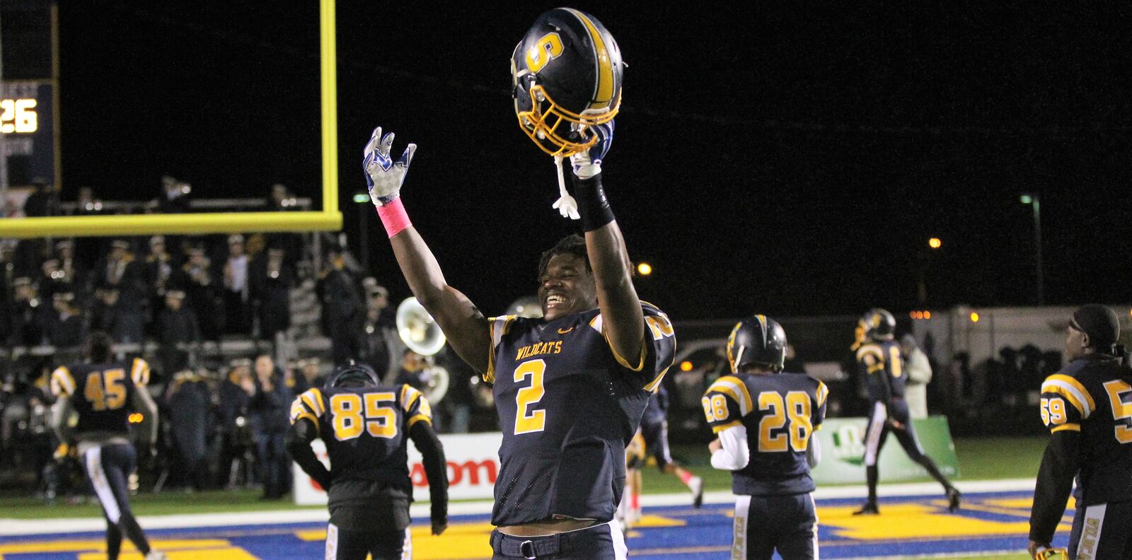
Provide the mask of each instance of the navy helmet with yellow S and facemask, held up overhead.
{"label": "navy helmet with yellow S and facemask, held up overhead", "polygon": [[601,21],[572,8],[539,16],[511,57],[518,126],[550,155],[567,157],[598,141],[586,128],[621,105],[621,51]]}

